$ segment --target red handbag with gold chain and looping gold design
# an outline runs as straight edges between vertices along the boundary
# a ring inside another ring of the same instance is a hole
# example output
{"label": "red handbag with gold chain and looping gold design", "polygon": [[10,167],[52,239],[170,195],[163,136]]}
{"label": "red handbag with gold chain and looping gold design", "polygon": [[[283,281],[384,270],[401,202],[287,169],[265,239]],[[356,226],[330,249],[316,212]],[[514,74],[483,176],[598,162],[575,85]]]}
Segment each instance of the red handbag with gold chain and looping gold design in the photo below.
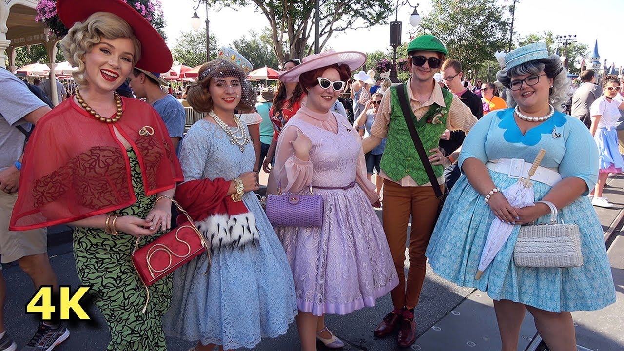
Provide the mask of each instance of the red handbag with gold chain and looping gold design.
{"label": "red handbag with gold chain and looping gold design", "polygon": [[188,222],[178,225],[175,229],[163,234],[140,249],[140,238],[137,238],[134,250],[132,250],[132,264],[134,264],[134,268],[145,285],[145,290],[147,290],[147,302],[145,302],[144,312],[149,302],[150,291],[147,288],[149,285],[154,284],[203,252],[208,254],[208,267],[210,267],[208,244],[193,223],[193,219],[188,215],[187,211],[182,209],[176,200],[166,195],[158,197],[156,201],[163,197],[171,200],[178,207],[178,210],[187,217]]}

